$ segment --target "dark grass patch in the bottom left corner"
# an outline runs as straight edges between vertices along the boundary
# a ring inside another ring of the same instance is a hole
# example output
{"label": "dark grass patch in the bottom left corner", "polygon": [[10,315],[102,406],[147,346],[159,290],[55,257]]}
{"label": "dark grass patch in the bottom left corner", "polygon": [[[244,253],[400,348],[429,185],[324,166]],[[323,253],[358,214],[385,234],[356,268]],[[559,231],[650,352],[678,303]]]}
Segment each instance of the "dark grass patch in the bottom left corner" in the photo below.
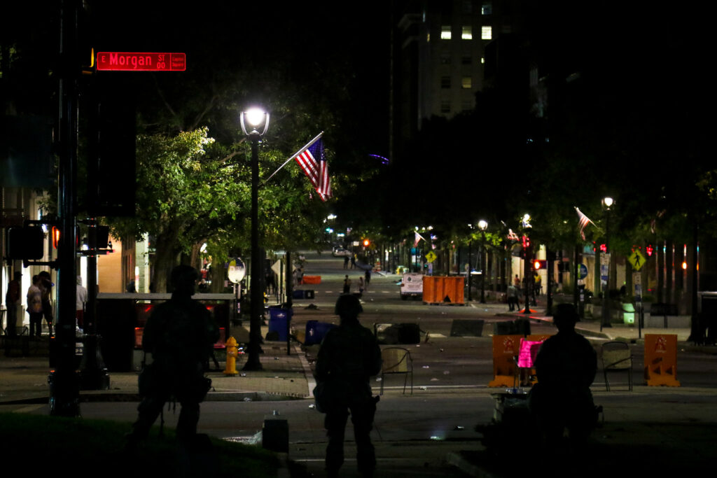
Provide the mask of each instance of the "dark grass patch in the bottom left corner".
{"label": "dark grass patch in the bottom left corner", "polygon": [[[155,427],[135,451],[124,450],[127,424],[56,416],[0,414],[6,463],[22,464],[34,476],[49,473],[103,477],[272,477],[280,465],[271,451],[210,438],[186,449],[173,429]],[[217,475],[219,476],[219,475]]]}

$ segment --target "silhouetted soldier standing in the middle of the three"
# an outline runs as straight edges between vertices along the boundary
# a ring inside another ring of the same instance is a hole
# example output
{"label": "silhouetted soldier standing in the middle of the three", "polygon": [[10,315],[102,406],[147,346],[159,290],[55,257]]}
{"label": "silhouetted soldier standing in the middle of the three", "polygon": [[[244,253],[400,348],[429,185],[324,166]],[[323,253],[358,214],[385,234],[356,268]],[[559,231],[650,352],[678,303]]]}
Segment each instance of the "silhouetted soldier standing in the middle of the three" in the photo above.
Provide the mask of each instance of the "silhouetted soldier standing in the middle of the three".
{"label": "silhouetted soldier standing in the middle of the three", "polygon": [[340,325],[326,333],[316,360],[316,380],[323,382],[331,397],[323,406],[324,426],[328,435],[326,471],[337,477],[343,464],[343,436],[351,411],[356,459],[359,472],[373,476],[376,455],[369,432],[374,424],[376,401],[371,396],[369,378],[381,371],[381,349],[371,330],[359,323],[361,302],[353,295],[341,295],[336,301]]}

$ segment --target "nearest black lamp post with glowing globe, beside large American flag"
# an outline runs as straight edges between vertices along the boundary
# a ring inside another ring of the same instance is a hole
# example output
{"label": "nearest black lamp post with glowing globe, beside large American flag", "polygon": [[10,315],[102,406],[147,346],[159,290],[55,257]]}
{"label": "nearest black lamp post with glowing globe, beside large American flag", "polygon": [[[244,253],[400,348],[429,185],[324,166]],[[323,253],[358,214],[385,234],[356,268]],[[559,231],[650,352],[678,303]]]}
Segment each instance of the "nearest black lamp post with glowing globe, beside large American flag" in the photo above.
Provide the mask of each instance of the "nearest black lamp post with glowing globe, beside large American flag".
{"label": "nearest black lamp post with glowing globe, beside large American flag", "polygon": [[[239,116],[242,133],[247,135],[252,148],[252,231],[251,231],[251,277],[250,277],[250,319],[249,355],[244,370],[262,370],[259,360],[261,342],[261,317],[264,309],[262,294],[263,261],[259,249],[259,143],[269,129],[269,113],[257,107],[242,111]],[[247,128],[249,126],[249,128]]]}

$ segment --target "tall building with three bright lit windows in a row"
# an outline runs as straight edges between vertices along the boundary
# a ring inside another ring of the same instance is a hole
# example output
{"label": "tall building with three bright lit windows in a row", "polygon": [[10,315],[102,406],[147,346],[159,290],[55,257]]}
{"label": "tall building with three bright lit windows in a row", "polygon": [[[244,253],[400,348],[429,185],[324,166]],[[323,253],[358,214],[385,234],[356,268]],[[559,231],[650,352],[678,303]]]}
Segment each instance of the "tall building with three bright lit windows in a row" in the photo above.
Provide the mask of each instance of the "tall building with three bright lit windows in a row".
{"label": "tall building with three bright lit windows in a row", "polygon": [[502,17],[492,0],[394,0],[391,35],[391,155],[424,120],[472,111],[484,87],[485,52]]}

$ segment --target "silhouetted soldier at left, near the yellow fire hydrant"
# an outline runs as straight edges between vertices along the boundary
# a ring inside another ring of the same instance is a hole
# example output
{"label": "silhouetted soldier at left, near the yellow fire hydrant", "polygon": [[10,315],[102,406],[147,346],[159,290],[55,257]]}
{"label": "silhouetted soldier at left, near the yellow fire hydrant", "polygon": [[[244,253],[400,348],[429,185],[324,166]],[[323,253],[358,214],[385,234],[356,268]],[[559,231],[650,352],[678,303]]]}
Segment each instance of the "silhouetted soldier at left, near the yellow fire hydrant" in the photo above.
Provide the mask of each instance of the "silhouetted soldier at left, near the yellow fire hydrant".
{"label": "silhouetted soldier at left, near the yellow fire hydrant", "polygon": [[204,363],[212,355],[219,329],[206,307],[191,298],[198,274],[193,267],[172,270],[171,300],[157,305],[147,320],[142,347],[153,362],[140,376],[139,416],[130,434],[130,446],[147,436],[164,403],[172,396],[181,403],[177,438],[186,443],[196,436],[199,403],[211,381],[204,377]]}

